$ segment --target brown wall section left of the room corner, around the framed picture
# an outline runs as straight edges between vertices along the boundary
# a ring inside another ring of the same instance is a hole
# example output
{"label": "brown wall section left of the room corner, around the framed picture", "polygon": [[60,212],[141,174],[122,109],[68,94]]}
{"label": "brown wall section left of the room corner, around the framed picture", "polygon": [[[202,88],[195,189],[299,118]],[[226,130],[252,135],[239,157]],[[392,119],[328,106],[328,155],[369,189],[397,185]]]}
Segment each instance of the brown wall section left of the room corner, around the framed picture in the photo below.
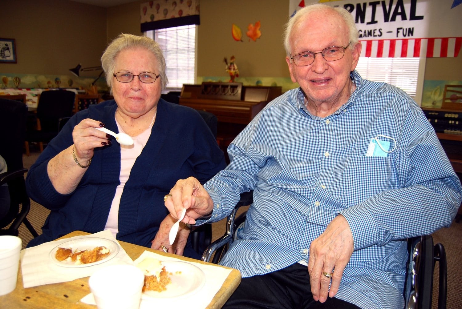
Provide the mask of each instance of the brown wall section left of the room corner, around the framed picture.
{"label": "brown wall section left of the room corner, around the framed picture", "polygon": [[58,75],[79,63],[100,65],[105,8],[73,1],[8,1],[1,7],[1,23],[0,37],[16,40],[18,63],[0,63],[0,73]]}

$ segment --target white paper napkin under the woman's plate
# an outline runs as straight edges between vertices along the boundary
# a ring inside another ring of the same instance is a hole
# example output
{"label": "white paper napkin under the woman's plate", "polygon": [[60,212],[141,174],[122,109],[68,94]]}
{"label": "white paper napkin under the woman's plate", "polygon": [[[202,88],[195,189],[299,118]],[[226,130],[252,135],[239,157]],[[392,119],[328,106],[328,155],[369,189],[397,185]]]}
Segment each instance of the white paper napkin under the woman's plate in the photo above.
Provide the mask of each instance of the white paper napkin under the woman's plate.
{"label": "white paper napkin under the woman's plate", "polygon": [[[49,258],[50,251],[57,245],[73,239],[85,237],[101,237],[113,240],[119,246],[119,253],[107,262],[79,268],[61,267],[55,265]],[[74,236],[70,238],[55,240],[53,242],[45,242],[41,245],[31,248],[25,248],[21,251],[21,271],[23,274],[24,288],[37,285],[47,285],[50,283],[67,282],[79,278],[91,276],[92,273],[112,264],[131,264],[133,261],[112,236],[110,230],[104,230],[95,234],[85,236]]]}

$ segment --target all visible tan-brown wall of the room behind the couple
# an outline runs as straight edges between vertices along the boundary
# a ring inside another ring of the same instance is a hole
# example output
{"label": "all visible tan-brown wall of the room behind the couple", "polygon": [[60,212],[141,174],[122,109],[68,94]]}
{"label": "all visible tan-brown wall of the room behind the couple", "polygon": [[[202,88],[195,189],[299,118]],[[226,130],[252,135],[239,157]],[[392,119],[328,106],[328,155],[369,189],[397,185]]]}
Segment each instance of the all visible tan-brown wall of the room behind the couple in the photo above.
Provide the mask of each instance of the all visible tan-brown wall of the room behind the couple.
{"label": "all visible tan-brown wall of the room behind the couple", "polygon": [[[0,64],[1,73],[67,74],[81,63],[100,64],[107,43],[120,32],[140,35],[140,3],[105,9],[68,0],[9,1],[2,6],[0,37],[16,39],[17,64]],[[198,30],[198,76],[225,75],[223,58],[236,56],[243,76],[288,77],[282,47],[288,0],[201,0]],[[261,22],[261,38],[250,41],[248,24]],[[243,42],[231,37],[231,24],[243,31]],[[425,79],[462,80],[462,59],[426,61]],[[83,73],[94,75],[95,73]]]}

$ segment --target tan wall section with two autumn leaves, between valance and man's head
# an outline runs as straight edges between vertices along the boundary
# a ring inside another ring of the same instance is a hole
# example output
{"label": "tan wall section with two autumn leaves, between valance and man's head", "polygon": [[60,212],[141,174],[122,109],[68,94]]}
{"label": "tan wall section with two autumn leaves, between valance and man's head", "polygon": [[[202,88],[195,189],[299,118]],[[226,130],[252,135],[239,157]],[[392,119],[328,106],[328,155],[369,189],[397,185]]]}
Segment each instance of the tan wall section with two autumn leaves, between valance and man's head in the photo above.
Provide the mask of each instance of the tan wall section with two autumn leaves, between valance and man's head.
{"label": "tan wall section with two autumn leaves, between valance and man's head", "polygon": [[[287,0],[201,0],[197,75],[227,75],[223,58],[234,55],[242,76],[289,77],[282,45],[288,13]],[[249,41],[247,27],[257,21],[261,37]],[[243,42],[232,38],[232,24],[241,28]]]}

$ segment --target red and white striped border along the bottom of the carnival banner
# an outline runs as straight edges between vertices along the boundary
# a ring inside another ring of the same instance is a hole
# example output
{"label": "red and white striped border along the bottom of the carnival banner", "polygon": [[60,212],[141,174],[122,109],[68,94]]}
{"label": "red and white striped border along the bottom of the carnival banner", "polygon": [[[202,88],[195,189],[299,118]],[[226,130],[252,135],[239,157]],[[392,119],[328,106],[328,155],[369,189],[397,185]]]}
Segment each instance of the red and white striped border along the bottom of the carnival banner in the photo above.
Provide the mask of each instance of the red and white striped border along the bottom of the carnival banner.
{"label": "red and white striped border along the bottom of the carnival banner", "polygon": [[360,42],[363,45],[361,57],[457,57],[462,46],[462,36]]}

